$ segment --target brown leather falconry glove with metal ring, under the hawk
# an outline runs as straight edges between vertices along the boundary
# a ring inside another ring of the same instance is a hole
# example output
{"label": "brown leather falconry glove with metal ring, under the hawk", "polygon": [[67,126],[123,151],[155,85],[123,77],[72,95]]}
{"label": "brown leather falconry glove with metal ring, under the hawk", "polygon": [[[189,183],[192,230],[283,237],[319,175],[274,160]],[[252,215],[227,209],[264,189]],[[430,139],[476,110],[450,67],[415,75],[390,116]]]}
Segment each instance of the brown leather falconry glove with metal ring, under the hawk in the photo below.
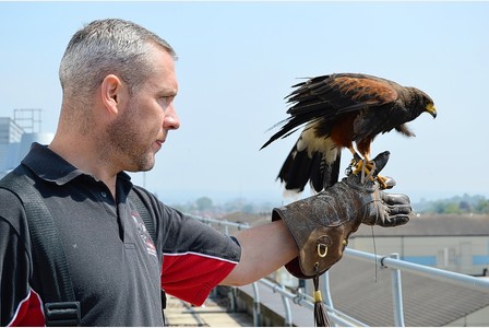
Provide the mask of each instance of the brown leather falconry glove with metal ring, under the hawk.
{"label": "brown leather falconry glove with metal ring, under the hawk", "polygon": [[[385,166],[389,155],[386,151],[373,159],[373,177]],[[389,188],[394,185],[393,179],[387,179]],[[286,269],[297,278],[309,279],[324,273],[342,258],[349,235],[361,223],[402,225],[409,221],[410,211],[407,196],[386,194],[375,179],[363,179],[358,173],[315,196],[273,209],[272,221],[284,220],[299,249],[299,256]]]}

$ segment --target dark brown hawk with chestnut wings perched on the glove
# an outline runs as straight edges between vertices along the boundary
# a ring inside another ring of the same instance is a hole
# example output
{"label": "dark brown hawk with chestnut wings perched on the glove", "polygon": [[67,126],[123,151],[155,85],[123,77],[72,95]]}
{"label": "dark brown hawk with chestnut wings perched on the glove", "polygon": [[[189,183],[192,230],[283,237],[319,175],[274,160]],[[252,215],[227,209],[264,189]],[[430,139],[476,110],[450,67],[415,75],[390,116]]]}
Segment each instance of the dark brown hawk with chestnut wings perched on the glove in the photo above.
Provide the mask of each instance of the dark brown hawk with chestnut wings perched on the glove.
{"label": "dark brown hawk with chestnut wings perched on the glove", "polygon": [[[308,181],[317,192],[334,185],[344,148],[354,155],[356,172],[372,171],[370,144],[378,134],[395,129],[413,137],[406,122],[425,112],[437,117],[433,101],[421,90],[373,75],[321,75],[293,87],[286,97],[290,116],[274,126],[282,129],[261,148],[305,126],[277,176],[290,191],[301,192]],[[382,177],[379,181],[386,187]]]}

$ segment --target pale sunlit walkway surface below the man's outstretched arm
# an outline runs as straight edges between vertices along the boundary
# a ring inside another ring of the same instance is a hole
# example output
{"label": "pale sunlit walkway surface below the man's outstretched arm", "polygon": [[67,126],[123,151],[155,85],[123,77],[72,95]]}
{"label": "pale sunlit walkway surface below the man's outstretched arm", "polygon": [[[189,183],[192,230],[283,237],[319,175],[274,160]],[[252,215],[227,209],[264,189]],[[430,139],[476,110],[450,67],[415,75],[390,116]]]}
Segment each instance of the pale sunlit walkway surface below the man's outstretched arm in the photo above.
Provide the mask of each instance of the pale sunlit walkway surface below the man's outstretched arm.
{"label": "pale sunlit walkway surface below the man's outstretched arm", "polygon": [[225,301],[207,298],[202,306],[167,295],[165,309],[169,327],[252,327],[253,318],[246,313],[229,313]]}

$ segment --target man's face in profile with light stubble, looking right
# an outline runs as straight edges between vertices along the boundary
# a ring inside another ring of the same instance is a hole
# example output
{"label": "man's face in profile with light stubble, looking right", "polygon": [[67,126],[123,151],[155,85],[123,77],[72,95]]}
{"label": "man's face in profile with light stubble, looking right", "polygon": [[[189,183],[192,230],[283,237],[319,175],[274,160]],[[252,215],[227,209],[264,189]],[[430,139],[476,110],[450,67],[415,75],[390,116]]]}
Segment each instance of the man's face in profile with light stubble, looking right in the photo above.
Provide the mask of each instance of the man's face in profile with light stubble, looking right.
{"label": "man's face in profile with light stubble, looking right", "polygon": [[148,171],[169,130],[180,127],[174,98],[178,83],[174,58],[154,48],[153,73],[129,97],[120,117],[108,127],[108,138],[124,171]]}

